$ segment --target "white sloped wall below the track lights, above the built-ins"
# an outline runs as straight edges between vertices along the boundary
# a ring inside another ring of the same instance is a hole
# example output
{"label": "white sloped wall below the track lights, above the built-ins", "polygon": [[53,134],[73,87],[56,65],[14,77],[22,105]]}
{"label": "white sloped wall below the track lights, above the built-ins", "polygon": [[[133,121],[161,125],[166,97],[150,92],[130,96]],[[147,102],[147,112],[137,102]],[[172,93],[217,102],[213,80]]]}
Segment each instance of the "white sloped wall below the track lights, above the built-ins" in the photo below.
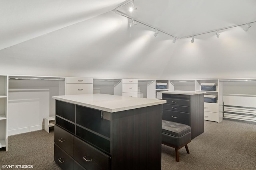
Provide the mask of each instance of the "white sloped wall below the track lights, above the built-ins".
{"label": "white sloped wall below the track lights, above the built-ins", "polygon": [[172,38],[114,12],[0,50],[1,74],[100,78],[256,77],[256,24]]}

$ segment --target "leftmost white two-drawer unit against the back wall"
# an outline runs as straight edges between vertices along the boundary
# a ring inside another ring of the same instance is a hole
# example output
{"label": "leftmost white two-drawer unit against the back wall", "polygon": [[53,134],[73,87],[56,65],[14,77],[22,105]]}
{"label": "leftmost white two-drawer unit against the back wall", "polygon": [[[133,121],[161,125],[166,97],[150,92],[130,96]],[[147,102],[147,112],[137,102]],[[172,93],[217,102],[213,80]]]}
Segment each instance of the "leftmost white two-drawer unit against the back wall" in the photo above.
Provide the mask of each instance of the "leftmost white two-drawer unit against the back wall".
{"label": "leftmost white two-drawer unit against the back wall", "polygon": [[66,95],[72,94],[92,94],[93,79],[80,77],[66,78]]}

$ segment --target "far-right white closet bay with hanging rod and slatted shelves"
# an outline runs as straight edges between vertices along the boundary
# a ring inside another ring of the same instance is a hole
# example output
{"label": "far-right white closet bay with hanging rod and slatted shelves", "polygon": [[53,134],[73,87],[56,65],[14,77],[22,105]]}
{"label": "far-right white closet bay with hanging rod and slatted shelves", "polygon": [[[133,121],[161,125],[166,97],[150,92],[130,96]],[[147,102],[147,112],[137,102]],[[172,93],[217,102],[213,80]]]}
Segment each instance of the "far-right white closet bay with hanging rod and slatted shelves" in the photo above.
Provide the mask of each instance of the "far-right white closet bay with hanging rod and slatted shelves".
{"label": "far-right white closet bay with hanging rod and slatted shelves", "polygon": [[256,78],[220,79],[224,119],[256,123]]}

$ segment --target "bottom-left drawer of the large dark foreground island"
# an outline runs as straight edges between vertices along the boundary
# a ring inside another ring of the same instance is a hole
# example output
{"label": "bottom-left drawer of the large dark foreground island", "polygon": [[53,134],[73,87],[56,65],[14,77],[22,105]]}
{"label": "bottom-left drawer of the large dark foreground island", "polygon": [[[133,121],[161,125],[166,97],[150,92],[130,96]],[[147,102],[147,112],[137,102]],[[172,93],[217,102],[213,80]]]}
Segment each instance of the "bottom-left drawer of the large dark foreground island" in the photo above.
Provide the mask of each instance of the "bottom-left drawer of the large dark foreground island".
{"label": "bottom-left drawer of the large dark foreground island", "polygon": [[62,170],[74,169],[74,159],[56,144],[54,144],[54,161]]}

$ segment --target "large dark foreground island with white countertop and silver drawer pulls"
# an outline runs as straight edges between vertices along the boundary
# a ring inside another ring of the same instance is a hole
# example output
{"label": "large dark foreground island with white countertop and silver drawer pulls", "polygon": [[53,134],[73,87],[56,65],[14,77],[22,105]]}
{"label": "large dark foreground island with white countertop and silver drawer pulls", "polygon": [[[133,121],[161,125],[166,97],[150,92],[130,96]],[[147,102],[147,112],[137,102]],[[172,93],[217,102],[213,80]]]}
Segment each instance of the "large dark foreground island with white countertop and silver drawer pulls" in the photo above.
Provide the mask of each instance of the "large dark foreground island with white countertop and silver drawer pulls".
{"label": "large dark foreground island with white countertop and silver drawer pulls", "polygon": [[54,160],[62,169],[161,169],[165,100],[109,94],[52,98]]}

